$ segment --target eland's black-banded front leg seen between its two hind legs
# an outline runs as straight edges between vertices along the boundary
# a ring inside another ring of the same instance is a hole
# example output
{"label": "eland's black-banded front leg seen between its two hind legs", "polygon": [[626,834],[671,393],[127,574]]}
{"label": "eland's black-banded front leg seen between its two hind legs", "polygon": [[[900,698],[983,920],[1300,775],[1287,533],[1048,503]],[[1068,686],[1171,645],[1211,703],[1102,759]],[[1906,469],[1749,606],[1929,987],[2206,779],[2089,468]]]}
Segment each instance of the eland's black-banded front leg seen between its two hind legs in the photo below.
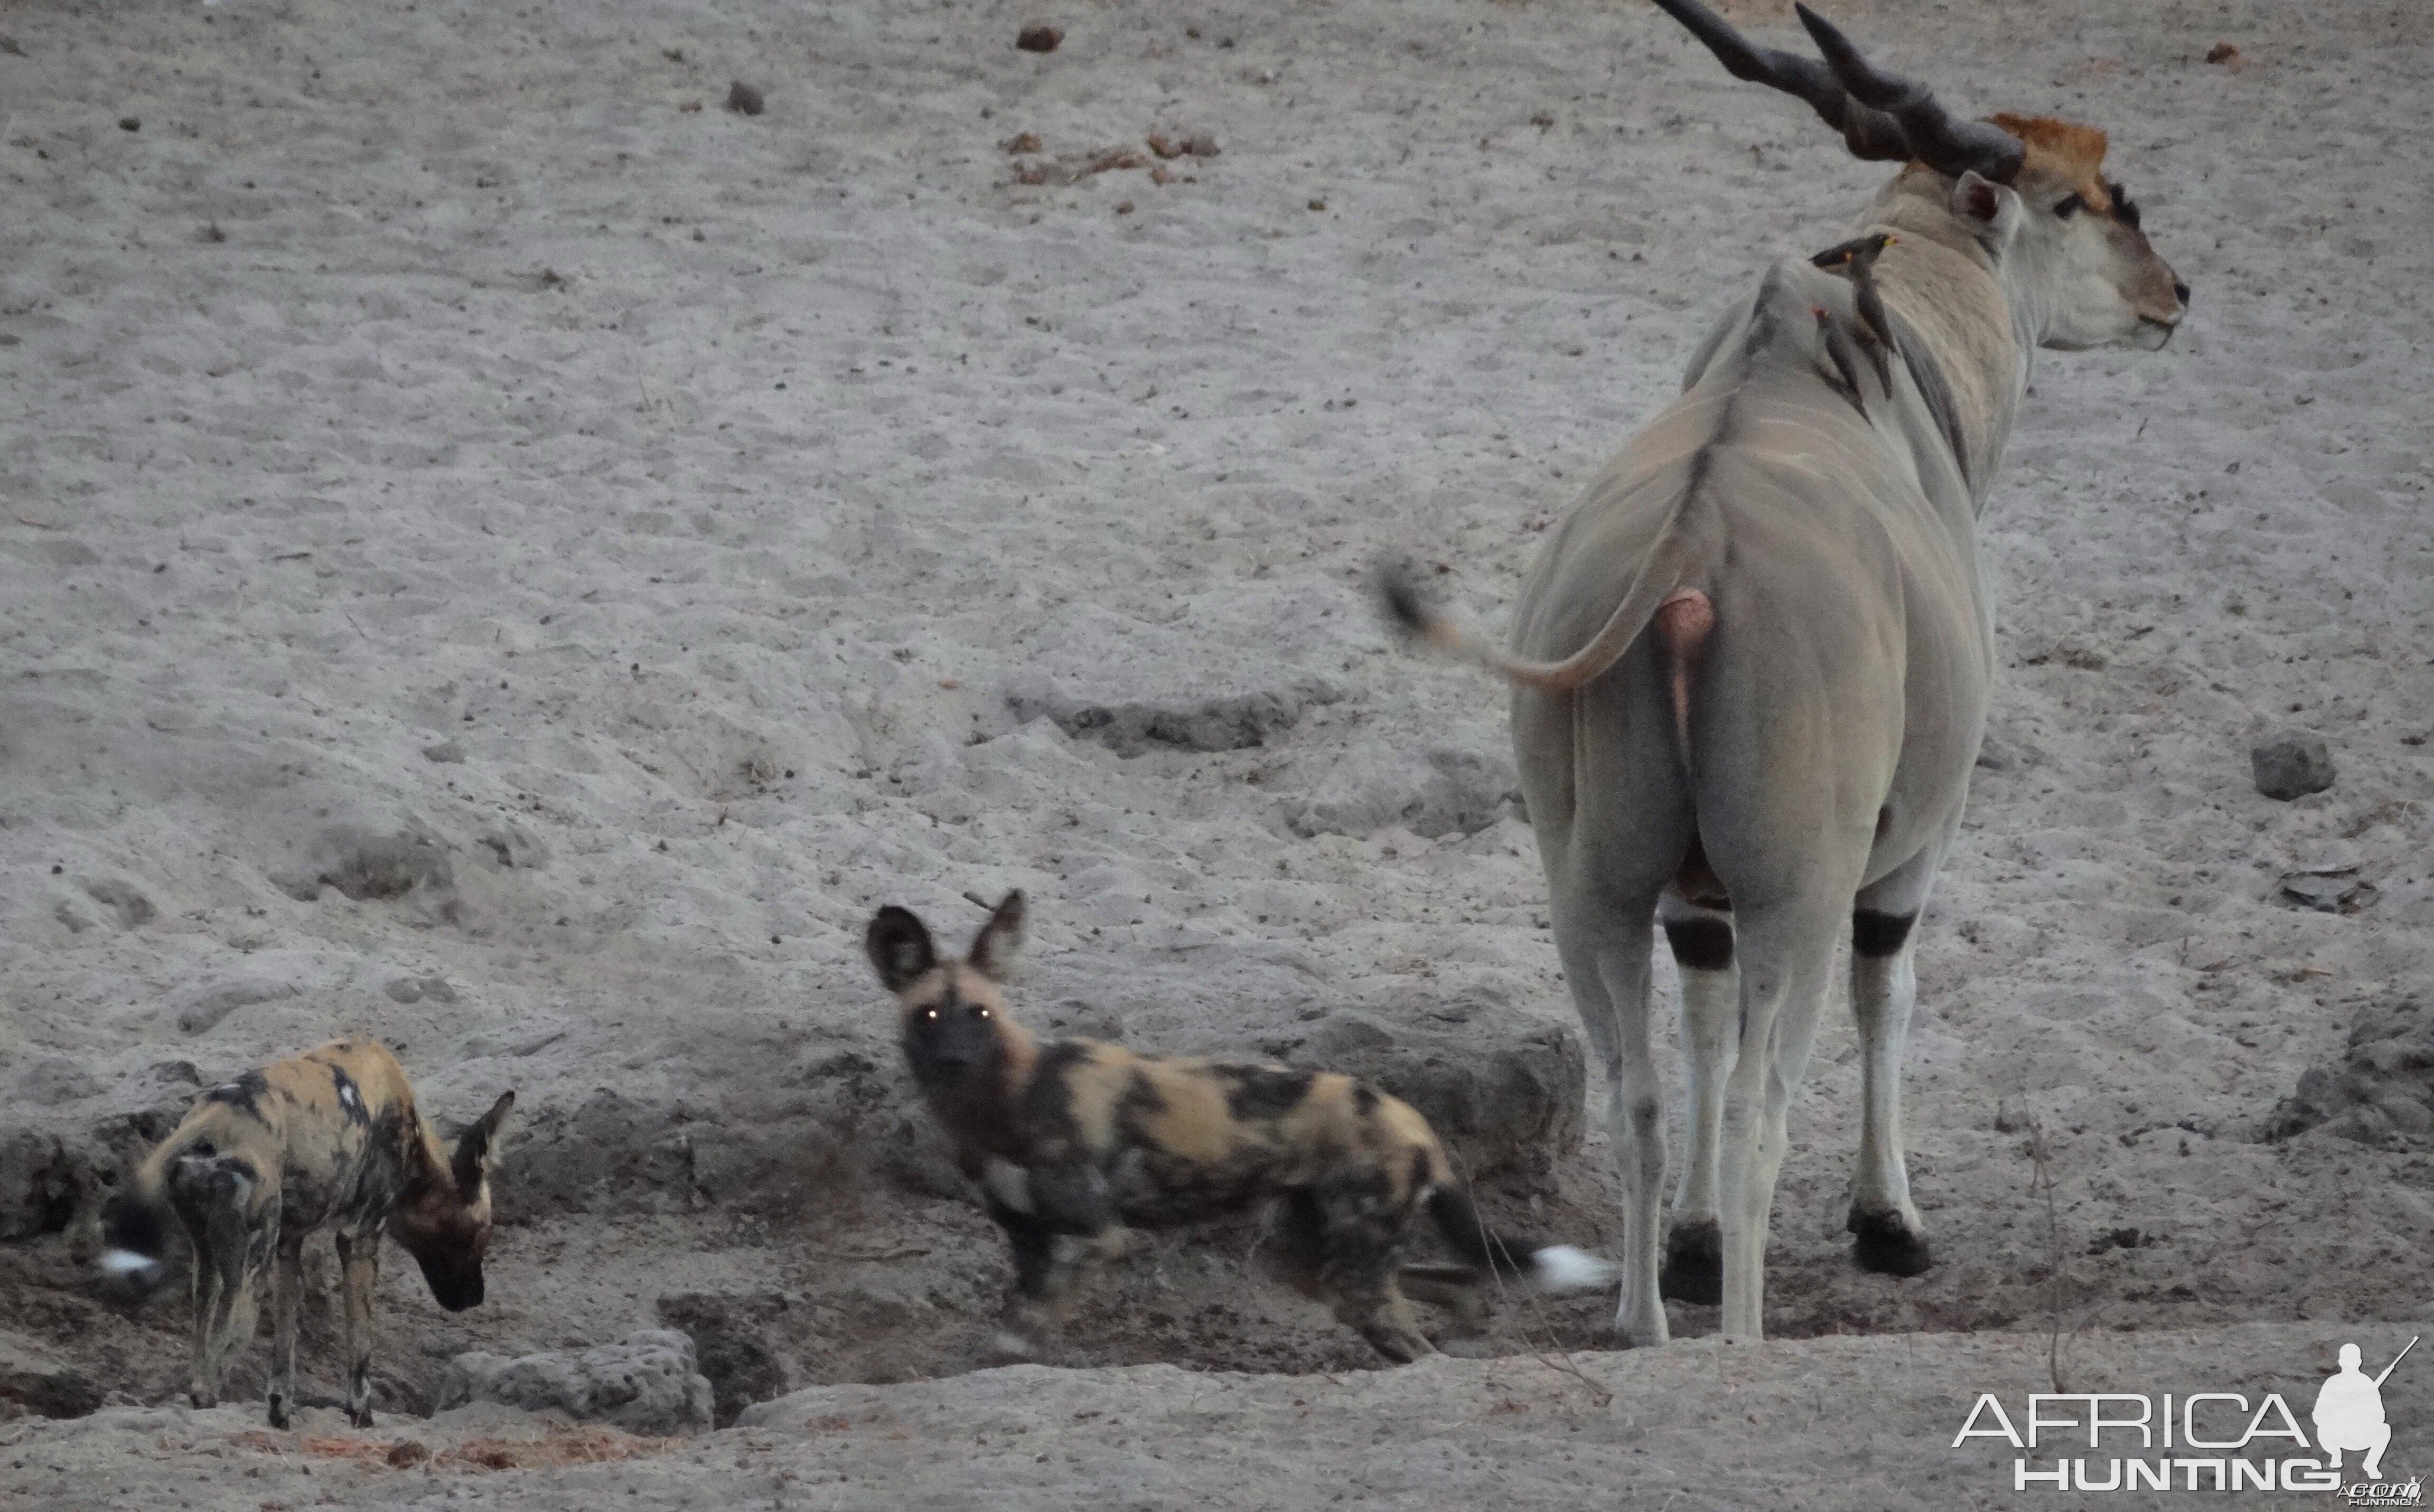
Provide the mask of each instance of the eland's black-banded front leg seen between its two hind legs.
{"label": "eland's black-banded front leg seen between its two hind legs", "polygon": [[1682,976],[1682,1069],[1689,1081],[1689,1159],[1675,1186],[1672,1230],[1658,1290],[1714,1307],[1723,1300],[1723,1230],[1716,1159],[1723,1147],[1723,1079],[1733,1071],[1740,974],[1733,971],[1733,915],[1677,894],[1658,901],[1665,942]]}

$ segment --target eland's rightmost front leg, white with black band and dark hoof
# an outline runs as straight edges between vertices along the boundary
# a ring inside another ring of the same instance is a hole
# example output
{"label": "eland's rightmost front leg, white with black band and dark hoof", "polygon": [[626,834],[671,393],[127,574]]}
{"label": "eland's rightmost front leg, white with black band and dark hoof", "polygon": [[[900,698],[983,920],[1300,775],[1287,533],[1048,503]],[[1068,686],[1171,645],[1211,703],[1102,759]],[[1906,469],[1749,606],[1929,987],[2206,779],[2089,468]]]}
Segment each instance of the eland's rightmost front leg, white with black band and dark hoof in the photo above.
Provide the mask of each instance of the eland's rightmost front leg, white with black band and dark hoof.
{"label": "eland's rightmost front leg, white with black band and dark hoof", "polygon": [[1860,1169],[1850,1181],[1852,1261],[1862,1271],[1918,1276],[1933,1261],[1928,1225],[1911,1205],[1901,1142],[1901,1054],[1918,1001],[1920,911],[1950,833],[1860,891],[1850,915],[1850,1010],[1860,1020]]}

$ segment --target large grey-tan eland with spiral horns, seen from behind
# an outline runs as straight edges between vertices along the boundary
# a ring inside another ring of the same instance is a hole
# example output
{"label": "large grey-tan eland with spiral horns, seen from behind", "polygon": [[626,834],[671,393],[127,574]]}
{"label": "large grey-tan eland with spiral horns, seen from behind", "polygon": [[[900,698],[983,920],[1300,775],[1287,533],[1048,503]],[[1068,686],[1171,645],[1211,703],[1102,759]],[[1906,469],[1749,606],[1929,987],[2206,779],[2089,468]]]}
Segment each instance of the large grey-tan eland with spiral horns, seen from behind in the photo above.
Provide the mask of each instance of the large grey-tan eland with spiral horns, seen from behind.
{"label": "large grey-tan eland with spiral horns, seen from behind", "polygon": [[[1808,7],[1826,63],[1752,46],[1699,0],[1658,5],[1733,75],[1903,168],[1855,241],[1774,263],[1716,324],[1682,397],[1541,550],[1509,650],[1383,579],[1407,631],[1514,684],[1555,947],[1611,1091],[1614,1325],[1631,1344],[1667,1337],[1662,1295],[1721,1300],[1726,1334],[1762,1334],[1784,1115],[1845,928],[1864,1049],[1855,1259],[1928,1269],[1901,1049],[1911,925],[1959,830],[1993,682],[1976,516],[2035,348],[2159,348],[2188,309],[2103,175],[2103,131],[1955,119]],[[1682,974],[1689,1079],[1670,1234],[1650,918]]]}

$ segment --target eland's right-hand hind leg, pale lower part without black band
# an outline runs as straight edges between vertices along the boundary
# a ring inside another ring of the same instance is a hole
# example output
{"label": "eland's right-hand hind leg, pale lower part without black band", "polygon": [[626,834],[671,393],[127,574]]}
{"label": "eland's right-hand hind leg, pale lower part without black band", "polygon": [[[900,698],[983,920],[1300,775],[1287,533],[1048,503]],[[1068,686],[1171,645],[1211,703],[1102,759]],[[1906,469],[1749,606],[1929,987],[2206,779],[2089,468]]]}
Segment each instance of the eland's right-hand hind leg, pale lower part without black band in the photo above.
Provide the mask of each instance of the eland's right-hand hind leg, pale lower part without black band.
{"label": "eland's right-hand hind leg, pale lower part without black band", "polygon": [[[1835,879],[1840,881],[1840,879]],[[1833,976],[1840,908],[1850,884],[1787,889],[1789,898],[1735,911],[1740,1045],[1723,1103],[1723,1334],[1765,1337],[1767,1222],[1784,1166],[1791,1093],[1808,1071],[1818,1010]]]}

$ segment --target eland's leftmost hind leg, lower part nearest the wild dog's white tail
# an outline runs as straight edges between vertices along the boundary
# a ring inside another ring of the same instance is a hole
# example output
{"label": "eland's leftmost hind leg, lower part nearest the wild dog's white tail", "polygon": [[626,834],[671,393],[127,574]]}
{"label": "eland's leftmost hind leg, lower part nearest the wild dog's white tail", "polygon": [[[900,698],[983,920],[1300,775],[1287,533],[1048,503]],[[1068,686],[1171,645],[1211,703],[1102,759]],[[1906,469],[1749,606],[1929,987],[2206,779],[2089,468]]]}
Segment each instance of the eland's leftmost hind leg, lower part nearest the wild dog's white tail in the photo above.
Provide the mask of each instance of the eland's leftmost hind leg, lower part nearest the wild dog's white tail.
{"label": "eland's leftmost hind leg, lower part nearest the wild dog's white tail", "polygon": [[1604,889],[1555,889],[1555,950],[1589,1049],[1606,1069],[1606,1137],[1623,1178],[1623,1295],[1614,1332],[1626,1344],[1662,1344],[1670,1337],[1658,1295],[1665,1081],[1648,1023],[1653,913],[1653,896],[1623,903]]}

